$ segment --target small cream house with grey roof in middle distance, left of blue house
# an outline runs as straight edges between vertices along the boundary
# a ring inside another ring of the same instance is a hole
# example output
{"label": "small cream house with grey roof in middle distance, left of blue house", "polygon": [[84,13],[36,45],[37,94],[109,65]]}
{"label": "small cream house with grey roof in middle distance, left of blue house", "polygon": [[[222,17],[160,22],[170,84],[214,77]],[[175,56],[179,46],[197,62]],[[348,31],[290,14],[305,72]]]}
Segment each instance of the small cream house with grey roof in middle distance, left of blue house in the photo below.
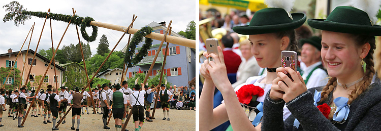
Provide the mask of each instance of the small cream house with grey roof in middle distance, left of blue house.
{"label": "small cream house with grey roof in middle distance, left of blue house", "polygon": [[[98,73],[96,77],[110,80],[111,84],[120,83],[121,77],[122,77],[122,71],[123,70],[120,68],[107,69],[106,71]],[[126,80],[125,77],[123,79]]]}

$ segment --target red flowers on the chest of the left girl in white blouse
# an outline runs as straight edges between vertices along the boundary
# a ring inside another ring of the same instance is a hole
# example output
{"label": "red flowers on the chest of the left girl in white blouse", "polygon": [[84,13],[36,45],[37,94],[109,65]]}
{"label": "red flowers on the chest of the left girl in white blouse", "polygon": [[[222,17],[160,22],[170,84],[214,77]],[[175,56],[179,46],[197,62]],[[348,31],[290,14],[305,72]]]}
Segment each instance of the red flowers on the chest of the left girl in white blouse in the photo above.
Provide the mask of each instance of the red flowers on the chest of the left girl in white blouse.
{"label": "red flowers on the chest of the left girl in white blouse", "polygon": [[265,91],[260,87],[254,84],[243,85],[237,92],[238,101],[243,104],[249,104],[252,96],[263,96]]}

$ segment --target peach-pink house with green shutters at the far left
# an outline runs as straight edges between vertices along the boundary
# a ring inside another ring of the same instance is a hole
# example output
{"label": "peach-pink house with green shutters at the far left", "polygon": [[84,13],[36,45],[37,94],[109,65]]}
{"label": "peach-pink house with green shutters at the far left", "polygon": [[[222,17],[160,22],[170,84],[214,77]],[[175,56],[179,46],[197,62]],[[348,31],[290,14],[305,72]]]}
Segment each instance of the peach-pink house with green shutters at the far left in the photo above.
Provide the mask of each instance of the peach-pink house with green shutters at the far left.
{"label": "peach-pink house with green shutters at the far left", "polygon": [[[26,52],[28,52],[28,53],[26,54]],[[41,77],[42,77],[42,75],[44,75],[44,73],[45,73],[46,68],[49,68],[48,72],[44,76],[44,79],[43,79],[44,82],[41,85],[41,88],[46,89],[46,86],[48,84],[53,85],[53,87],[55,88],[56,87],[55,82],[57,82],[58,86],[61,86],[61,84],[62,84],[62,82],[61,82],[62,81],[62,73],[65,71],[65,69],[63,69],[59,65],[55,65],[56,75],[54,75],[54,63],[51,63],[50,65],[48,65],[50,62],[49,59],[47,59],[47,58],[41,56],[40,54],[36,53],[36,58],[33,60],[33,56],[35,54],[35,51],[29,49],[29,50],[21,51],[21,55],[19,55],[17,60],[16,60],[18,53],[19,53],[18,51],[12,52],[12,49],[8,49],[8,53],[0,54],[0,67],[12,68],[12,66],[14,65],[14,68],[18,68],[22,72],[23,63],[24,63],[25,58],[26,58],[24,71],[22,74],[20,73],[21,79],[19,79],[19,80],[21,80],[21,82],[22,82],[21,84],[26,84],[25,80],[27,77],[29,77],[31,87],[32,88],[34,88],[34,87],[38,88],[39,83],[36,82],[35,77],[39,76],[39,75],[41,75]],[[30,74],[28,76],[30,64],[32,62],[33,62],[33,67],[31,68],[32,70],[30,71]],[[58,62],[56,62],[56,64],[58,64]],[[7,76],[5,76],[3,78],[4,80],[3,80],[2,84],[4,84],[4,82],[5,82],[6,85],[13,85],[16,87],[19,86],[19,85],[15,85],[15,83],[14,83],[15,79],[14,78],[6,79],[6,77]],[[37,81],[39,81],[39,80],[37,80]]]}

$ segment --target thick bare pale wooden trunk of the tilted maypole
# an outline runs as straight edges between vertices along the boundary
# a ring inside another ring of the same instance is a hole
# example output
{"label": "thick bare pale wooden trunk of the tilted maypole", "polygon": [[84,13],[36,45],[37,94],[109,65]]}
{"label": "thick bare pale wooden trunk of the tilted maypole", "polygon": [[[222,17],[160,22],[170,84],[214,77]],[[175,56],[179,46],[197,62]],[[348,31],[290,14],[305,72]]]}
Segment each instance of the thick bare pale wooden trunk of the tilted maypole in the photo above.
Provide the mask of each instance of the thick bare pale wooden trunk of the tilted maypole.
{"label": "thick bare pale wooden trunk of the tilted maypole", "polygon": [[[102,23],[102,22],[98,22],[98,21],[91,21],[90,25],[108,28],[108,29],[117,30],[117,31],[122,31],[122,32],[124,32],[128,29],[128,27],[125,27],[125,26],[107,24],[107,23]],[[138,30],[139,29],[130,28],[128,33],[135,34]],[[156,39],[156,40],[162,40],[162,38],[164,37],[164,34],[152,32],[152,33],[146,35],[145,37]],[[176,37],[176,36],[167,36],[167,39],[165,41],[170,42],[170,43],[174,43],[176,45],[196,49],[196,40],[182,38],[182,37]]]}

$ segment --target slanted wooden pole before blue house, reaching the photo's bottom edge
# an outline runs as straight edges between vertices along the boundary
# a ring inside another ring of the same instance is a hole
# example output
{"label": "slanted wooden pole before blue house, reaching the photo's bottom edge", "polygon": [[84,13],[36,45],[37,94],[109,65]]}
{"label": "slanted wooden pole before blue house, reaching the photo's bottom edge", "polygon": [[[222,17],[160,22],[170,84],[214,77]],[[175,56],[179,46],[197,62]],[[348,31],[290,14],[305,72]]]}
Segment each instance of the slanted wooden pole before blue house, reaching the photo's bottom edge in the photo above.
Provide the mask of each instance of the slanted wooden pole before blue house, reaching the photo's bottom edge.
{"label": "slanted wooden pole before blue house, reaching the photo's bottom edge", "polygon": [[[144,79],[144,82],[143,82],[144,85],[145,85],[145,83],[147,82],[147,79],[148,79],[148,77],[149,77],[149,74],[152,72],[153,65],[155,65],[157,56],[158,56],[158,54],[160,53],[160,50],[162,49],[162,46],[163,46],[163,43],[164,43],[165,39],[167,38],[167,34],[168,34],[168,31],[169,31],[169,29],[170,29],[170,27],[171,27],[171,24],[172,24],[172,20],[171,20],[171,21],[169,22],[169,24],[168,24],[167,31],[164,33],[164,36],[162,37],[162,42],[160,43],[160,46],[159,46],[159,48],[157,49],[157,53],[156,53],[156,55],[155,55],[155,58],[153,58],[152,64],[151,64],[151,66],[149,67],[148,73],[147,73],[146,76],[145,76],[145,79]],[[152,33],[151,33],[151,34],[152,34]],[[148,35],[146,35],[146,36],[148,36]],[[123,131],[124,131],[125,127],[127,126],[127,124],[129,123],[130,118],[131,118],[131,115],[132,115],[132,111],[130,111],[129,116],[127,117],[126,121],[124,122],[124,125],[123,125],[123,127],[122,127],[122,130],[123,130]]]}

